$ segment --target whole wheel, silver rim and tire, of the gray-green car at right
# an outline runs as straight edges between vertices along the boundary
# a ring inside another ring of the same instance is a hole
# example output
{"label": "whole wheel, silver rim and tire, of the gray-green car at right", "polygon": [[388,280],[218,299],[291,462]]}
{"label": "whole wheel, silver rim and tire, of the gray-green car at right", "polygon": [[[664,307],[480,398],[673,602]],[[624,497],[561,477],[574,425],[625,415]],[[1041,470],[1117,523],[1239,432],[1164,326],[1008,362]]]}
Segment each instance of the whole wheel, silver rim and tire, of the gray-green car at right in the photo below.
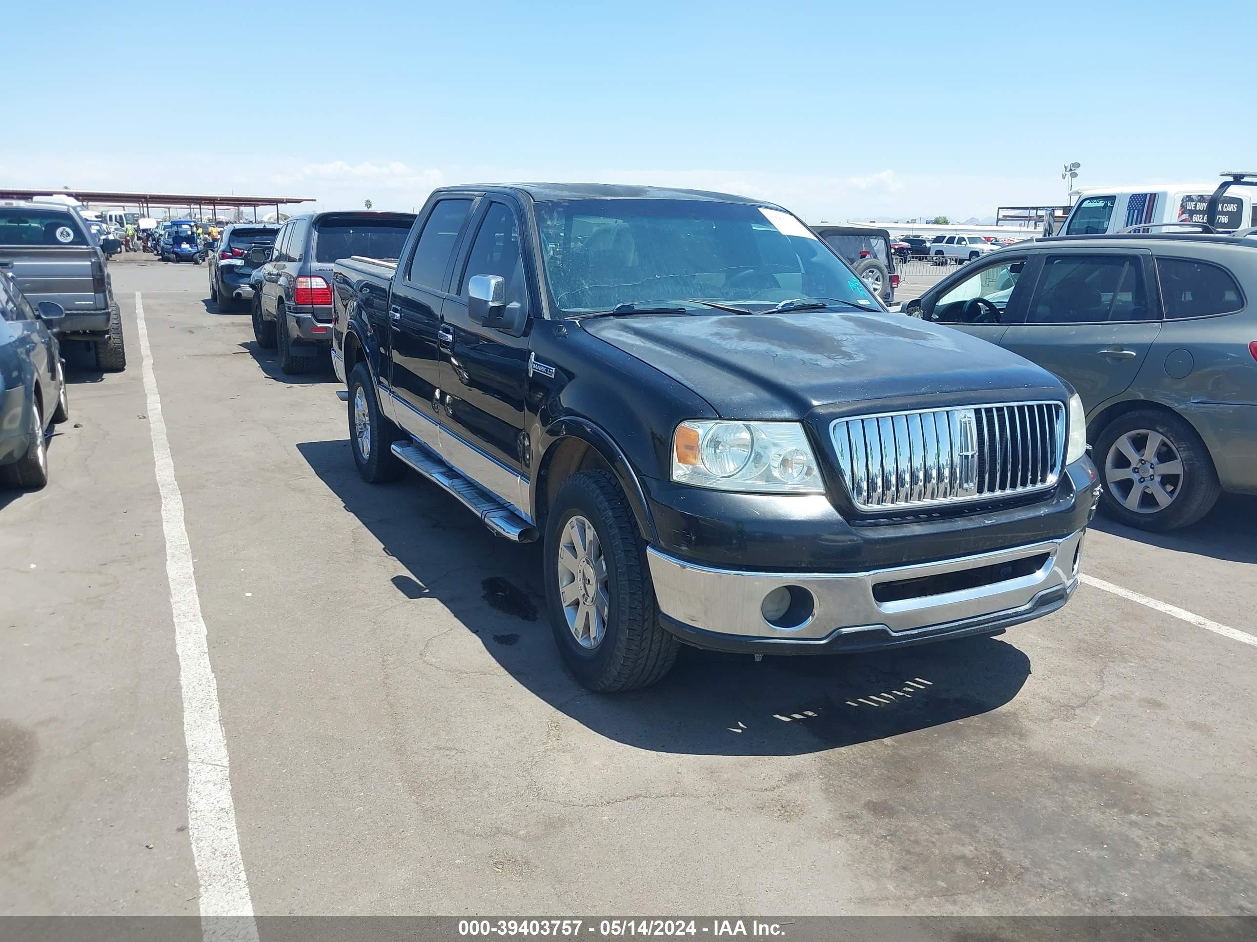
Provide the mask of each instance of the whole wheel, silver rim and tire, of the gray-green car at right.
{"label": "whole wheel, silver rim and tire, of the gray-green car at right", "polygon": [[1096,437],[1104,475],[1100,509],[1139,530],[1190,526],[1213,509],[1222,489],[1209,450],[1179,416],[1135,409]]}

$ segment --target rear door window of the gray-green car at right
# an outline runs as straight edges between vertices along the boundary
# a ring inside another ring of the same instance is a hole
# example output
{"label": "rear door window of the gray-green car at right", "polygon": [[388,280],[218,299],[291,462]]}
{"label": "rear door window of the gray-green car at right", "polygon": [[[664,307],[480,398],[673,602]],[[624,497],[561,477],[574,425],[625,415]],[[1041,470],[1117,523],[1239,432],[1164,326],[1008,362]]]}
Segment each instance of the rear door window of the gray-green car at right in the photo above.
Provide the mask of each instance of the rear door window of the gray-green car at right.
{"label": "rear door window of the gray-green car at right", "polygon": [[1043,265],[1029,324],[1148,320],[1143,263],[1131,255],[1056,255]]}

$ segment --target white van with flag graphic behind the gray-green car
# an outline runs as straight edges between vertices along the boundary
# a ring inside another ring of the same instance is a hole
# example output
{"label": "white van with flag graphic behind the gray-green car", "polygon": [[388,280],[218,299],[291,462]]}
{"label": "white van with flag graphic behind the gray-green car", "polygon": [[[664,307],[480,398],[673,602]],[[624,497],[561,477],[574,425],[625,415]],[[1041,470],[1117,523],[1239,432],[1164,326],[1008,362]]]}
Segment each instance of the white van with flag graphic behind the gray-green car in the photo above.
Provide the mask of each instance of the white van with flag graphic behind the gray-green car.
{"label": "white van with flag graphic behind the gray-green car", "polygon": [[[1077,191],[1058,235],[1102,235],[1155,222],[1207,222],[1216,188],[1216,183],[1086,187]],[[1257,187],[1236,186],[1223,193],[1213,227],[1234,231],[1257,226],[1253,191]]]}

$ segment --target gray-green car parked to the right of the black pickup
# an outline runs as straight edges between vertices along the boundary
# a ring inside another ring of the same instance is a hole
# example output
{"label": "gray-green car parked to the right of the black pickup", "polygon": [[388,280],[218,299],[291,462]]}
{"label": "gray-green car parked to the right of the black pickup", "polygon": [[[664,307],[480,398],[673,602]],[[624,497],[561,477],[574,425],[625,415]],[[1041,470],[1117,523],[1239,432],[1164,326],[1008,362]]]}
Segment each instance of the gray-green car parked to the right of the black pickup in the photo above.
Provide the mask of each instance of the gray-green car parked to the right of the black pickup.
{"label": "gray-green car parked to the right of the black pickup", "polygon": [[[943,279],[905,313],[1071,383],[1100,507],[1144,530],[1257,494],[1257,240],[1165,232],[1036,239]],[[1008,430],[1016,438],[1018,430]]]}

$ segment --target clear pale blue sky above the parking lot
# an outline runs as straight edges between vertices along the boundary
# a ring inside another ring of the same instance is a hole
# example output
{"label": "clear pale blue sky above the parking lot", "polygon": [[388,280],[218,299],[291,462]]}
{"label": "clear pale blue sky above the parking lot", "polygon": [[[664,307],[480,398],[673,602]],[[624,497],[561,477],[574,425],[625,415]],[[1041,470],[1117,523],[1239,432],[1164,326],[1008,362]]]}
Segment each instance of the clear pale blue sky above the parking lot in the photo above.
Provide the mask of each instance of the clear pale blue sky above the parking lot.
{"label": "clear pale blue sky above the parking lot", "polygon": [[1080,186],[1257,170],[1253,0],[45,0],[5,16],[10,186],[410,208],[445,183],[645,182],[832,221],[1060,202],[1067,161]]}

